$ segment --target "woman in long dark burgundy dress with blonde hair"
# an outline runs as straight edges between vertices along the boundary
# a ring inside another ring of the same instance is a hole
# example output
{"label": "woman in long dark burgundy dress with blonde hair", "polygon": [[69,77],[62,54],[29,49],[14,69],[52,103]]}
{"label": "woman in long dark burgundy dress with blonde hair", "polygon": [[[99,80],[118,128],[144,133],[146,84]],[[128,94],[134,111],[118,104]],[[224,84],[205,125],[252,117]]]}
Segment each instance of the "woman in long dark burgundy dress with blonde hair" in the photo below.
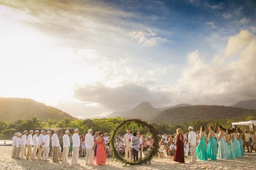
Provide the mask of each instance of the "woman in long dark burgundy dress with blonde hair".
{"label": "woman in long dark burgundy dress with blonde hair", "polygon": [[176,150],[174,154],[174,161],[180,162],[180,163],[185,163],[184,159],[184,136],[181,134],[181,129],[178,128],[176,134]]}

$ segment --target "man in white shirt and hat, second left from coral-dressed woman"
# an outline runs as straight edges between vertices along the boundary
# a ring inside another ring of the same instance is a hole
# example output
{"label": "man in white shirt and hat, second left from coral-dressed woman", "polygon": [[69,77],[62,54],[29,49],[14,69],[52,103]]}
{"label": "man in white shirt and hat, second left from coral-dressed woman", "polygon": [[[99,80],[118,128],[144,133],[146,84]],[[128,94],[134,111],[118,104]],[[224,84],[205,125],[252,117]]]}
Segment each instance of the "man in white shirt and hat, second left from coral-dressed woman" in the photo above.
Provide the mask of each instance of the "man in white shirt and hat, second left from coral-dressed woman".
{"label": "man in white shirt and hat, second left from coral-dressed woman", "polygon": [[73,140],[73,156],[71,159],[71,164],[78,165],[78,156],[79,156],[79,147],[80,147],[80,139],[79,139],[79,129],[75,129],[75,134],[72,136]]}

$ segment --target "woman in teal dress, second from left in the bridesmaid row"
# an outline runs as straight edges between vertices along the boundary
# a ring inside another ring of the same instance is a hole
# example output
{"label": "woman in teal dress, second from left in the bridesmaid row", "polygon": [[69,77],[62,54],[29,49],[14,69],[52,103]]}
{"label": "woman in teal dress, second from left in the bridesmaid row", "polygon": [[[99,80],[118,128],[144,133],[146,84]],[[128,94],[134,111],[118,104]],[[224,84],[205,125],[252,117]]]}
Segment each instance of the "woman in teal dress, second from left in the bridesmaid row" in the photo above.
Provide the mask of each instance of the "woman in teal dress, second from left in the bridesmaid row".
{"label": "woman in teal dress, second from left in the bridesmaid row", "polygon": [[207,149],[207,158],[216,161],[217,160],[217,142],[215,139],[215,132],[212,126],[209,127],[209,143]]}

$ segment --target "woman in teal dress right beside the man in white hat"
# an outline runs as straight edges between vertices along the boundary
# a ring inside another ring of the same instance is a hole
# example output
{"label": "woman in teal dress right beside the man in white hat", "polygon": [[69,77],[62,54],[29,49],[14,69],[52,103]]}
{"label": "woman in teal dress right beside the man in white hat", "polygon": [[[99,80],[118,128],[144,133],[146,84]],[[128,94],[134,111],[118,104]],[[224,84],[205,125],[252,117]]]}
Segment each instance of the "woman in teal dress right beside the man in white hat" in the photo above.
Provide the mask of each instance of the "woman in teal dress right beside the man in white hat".
{"label": "woman in teal dress right beside the man in white hat", "polygon": [[201,126],[198,146],[196,147],[196,157],[201,161],[207,161],[207,145],[205,142],[205,127]]}

